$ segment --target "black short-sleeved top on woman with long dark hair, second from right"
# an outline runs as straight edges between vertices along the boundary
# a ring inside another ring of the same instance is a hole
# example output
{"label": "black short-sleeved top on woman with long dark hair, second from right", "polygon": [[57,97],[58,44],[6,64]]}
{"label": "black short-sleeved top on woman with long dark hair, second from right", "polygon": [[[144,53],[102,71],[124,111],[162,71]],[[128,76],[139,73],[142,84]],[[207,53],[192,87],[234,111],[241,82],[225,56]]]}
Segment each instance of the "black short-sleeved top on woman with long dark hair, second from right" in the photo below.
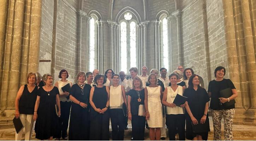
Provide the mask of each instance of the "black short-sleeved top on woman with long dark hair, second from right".
{"label": "black short-sleeved top on woman with long dark hair, second from right", "polygon": [[[186,88],[184,93],[184,97],[187,97],[188,106],[193,114],[193,116],[197,119],[202,118],[204,115],[205,103],[209,102],[209,97],[204,88],[198,87],[197,91],[194,88]],[[186,111],[186,115],[188,115]]]}

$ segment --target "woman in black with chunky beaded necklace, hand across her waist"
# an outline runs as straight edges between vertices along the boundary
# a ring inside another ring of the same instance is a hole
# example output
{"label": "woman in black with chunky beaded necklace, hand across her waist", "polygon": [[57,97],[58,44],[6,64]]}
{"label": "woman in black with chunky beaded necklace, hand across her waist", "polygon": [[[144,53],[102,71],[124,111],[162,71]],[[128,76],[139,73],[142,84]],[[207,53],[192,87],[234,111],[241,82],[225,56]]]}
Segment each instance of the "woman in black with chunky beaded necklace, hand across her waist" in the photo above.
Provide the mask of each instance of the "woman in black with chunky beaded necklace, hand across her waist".
{"label": "woman in black with chunky beaded necklace, hand across her waist", "polygon": [[69,140],[89,140],[89,94],[91,86],[85,83],[85,72],[79,72],[76,76],[77,84],[70,90],[72,101],[69,122]]}

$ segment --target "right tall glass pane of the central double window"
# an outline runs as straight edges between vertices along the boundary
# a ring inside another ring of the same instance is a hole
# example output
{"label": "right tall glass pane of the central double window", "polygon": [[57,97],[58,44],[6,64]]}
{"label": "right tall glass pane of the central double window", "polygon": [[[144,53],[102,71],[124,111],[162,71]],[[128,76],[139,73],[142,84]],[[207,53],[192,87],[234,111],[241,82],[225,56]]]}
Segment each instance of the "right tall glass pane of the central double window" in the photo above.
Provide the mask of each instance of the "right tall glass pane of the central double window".
{"label": "right tall glass pane of the central double window", "polygon": [[130,23],[130,67],[136,67],[136,24]]}

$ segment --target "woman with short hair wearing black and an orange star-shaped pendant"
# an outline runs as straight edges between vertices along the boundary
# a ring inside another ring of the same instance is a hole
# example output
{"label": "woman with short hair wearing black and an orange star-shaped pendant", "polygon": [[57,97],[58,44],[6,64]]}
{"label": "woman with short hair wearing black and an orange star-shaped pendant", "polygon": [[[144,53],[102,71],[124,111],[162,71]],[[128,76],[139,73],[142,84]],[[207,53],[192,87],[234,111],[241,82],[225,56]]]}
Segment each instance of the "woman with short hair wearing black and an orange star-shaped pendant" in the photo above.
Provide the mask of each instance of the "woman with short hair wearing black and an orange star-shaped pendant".
{"label": "woman with short hair wearing black and an orange star-shaped pendant", "polygon": [[[145,91],[139,77],[133,79],[133,89],[128,93],[128,119],[132,121],[133,140],[143,141],[146,123],[146,112],[139,115],[139,105],[144,107]],[[145,108],[144,108],[145,109]]]}

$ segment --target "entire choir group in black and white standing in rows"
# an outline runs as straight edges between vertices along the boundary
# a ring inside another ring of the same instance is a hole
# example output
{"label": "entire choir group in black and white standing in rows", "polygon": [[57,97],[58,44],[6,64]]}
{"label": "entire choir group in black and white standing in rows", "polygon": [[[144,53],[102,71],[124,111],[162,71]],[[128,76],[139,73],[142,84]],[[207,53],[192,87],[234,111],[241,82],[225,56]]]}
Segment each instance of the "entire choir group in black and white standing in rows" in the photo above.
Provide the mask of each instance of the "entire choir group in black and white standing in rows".
{"label": "entire choir group in black and white standing in rows", "polygon": [[[202,78],[193,69],[178,66],[167,75],[167,69],[130,68],[131,78],[121,71],[115,74],[107,69],[100,74],[79,72],[76,84],[68,80],[65,69],[53,85],[51,74],[29,73],[27,84],[19,88],[15,100],[15,117],[20,118],[25,128],[25,140],[109,140],[111,122],[112,140],[124,140],[128,119],[132,122],[131,140],[144,140],[145,125],[150,140],[164,140],[168,128],[169,140],[207,140],[209,105],[213,116],[214,140],[221,139],[221,119],[224,118],[224,139],[233,140],[232,123],[234,99],[237,97],[234,84],[224,79],[226,69],[215,69],[215,79],[204,89]],[[70,85],[69,91],[63,87]],[[223,97],[222,93],[230,94]],[[174,104],[178,96],[185,103]],[[209,104],[210,101],[210,104]],[[186,125],[186,130],[185,130]],[[67,132],[67,129],[69,130]],[[21,140],[23,131],[16,133]]]}

